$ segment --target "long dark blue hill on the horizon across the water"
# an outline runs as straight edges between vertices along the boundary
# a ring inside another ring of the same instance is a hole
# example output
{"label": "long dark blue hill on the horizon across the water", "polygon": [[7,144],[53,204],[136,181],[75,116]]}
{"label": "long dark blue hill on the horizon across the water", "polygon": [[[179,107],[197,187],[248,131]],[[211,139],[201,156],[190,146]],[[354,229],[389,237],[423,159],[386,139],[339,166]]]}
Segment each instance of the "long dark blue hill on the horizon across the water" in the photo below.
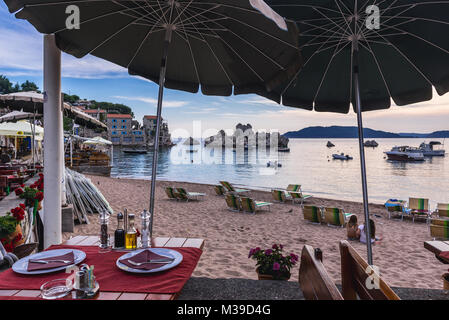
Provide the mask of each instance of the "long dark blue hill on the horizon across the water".
{"label": "long dark blue hill on the horizon across the water", "polygon": [[[298,131],[289,131],[283,134],[287,138],[357,138],[357,127],[307,127]],[[392,133],[370,128],[363,129],[365,138],[449,138],[449,130],[432,133]]]}

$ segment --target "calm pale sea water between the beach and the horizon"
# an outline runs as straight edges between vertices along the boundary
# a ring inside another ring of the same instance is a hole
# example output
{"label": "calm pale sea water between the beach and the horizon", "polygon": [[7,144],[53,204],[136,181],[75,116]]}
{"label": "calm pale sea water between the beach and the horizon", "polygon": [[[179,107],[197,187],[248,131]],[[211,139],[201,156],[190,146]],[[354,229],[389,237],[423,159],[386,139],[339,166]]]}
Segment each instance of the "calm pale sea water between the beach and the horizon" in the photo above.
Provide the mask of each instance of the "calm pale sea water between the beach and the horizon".
{"label": "calm pale sea water between the beach and the horizon", "polygon": [[[360,157],[357,139],[290,139],[289,153],[257,150],[233,152],[193,146],[176,146],[160,153],[158,179],[216,184],[227,180],[253,188],[285,188],[298,183],[307,193],[319,197],[362,201]],[[370,202],[384,203],[388,198],[424,197],[449,202],[449,155],[427,158],[424,162],[387,161],[384,151],[395,145],[418,146],[423,139],[376,139],[379,147],[365,148]],[[269,150],[268,150],[269,151]],[[447,150],[449,151],[449,150]],[[353,160],[333,160],[333,153],[344,152]],[[114,150],[111,175],[150,179],[152,153],[131,155]],[[278,160],[282,167],[267,168]]]}

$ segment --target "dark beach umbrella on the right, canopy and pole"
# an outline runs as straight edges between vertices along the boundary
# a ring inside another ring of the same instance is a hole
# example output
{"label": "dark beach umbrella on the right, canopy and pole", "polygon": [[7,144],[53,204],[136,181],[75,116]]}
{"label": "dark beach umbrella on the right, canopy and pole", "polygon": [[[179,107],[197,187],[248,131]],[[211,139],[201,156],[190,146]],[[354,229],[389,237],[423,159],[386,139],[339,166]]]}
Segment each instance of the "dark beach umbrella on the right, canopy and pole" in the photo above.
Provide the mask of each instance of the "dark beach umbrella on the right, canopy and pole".
{"label": "dark beach umbrella on the right, canopy and pole", "polygon": [[[366,236],[370,239],[362,111],[449,91],[449,1],[268,0],[294,20],[303,67],[275,91],[284,106],[357,113]],[[372,264],[367,241],[368,263]]]}

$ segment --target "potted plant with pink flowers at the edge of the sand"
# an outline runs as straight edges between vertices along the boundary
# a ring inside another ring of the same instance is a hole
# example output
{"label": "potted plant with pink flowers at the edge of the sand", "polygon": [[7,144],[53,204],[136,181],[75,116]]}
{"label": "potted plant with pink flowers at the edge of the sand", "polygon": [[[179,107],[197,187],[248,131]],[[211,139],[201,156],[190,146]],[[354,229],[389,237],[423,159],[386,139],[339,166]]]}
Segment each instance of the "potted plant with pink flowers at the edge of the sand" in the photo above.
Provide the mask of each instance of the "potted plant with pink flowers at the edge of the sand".
{"label": "potted plant with pink flowers at the edge of the sand", "polygon": [[256,272],[259,280],[288,280],[290,279],[290,269],[297,262],[299,257],[290,253],[283,255],[282,244],[273,244],[271,249],[261,250],[259,247],[249,251],[248,258],[257,261]]}

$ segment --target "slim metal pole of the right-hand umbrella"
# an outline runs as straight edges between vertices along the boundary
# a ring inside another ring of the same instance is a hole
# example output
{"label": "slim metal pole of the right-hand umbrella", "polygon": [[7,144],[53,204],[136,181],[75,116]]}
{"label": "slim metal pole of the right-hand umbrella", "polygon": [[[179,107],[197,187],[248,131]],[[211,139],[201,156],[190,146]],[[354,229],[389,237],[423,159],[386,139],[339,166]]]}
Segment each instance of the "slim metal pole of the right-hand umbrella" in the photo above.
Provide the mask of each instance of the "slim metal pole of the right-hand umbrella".
{"label": "slim metal pole of the right-hand umbrella", "polygon": [[358,45],[357,40],[354,40],[353,44],[353,77],[354,77],[354,92],[355,92],[355,108],[357,110],[357,126],[359,136],[359,151],[360,151],[360,169],[362,175],[362,191],[363,191],[363,212],[365,214],[365,227],[366,234],[366,249],[368,255],[368,264],[373,264],[373,251],[371,247],[371,229],[370,218],[368,208],[368,187],[366,180],[366,165],[365,165],[365,148],[363,145],[363,121],[362,121],[362,102],[360,99],[360,84],[359,84],[359,57],[358,57]]}

